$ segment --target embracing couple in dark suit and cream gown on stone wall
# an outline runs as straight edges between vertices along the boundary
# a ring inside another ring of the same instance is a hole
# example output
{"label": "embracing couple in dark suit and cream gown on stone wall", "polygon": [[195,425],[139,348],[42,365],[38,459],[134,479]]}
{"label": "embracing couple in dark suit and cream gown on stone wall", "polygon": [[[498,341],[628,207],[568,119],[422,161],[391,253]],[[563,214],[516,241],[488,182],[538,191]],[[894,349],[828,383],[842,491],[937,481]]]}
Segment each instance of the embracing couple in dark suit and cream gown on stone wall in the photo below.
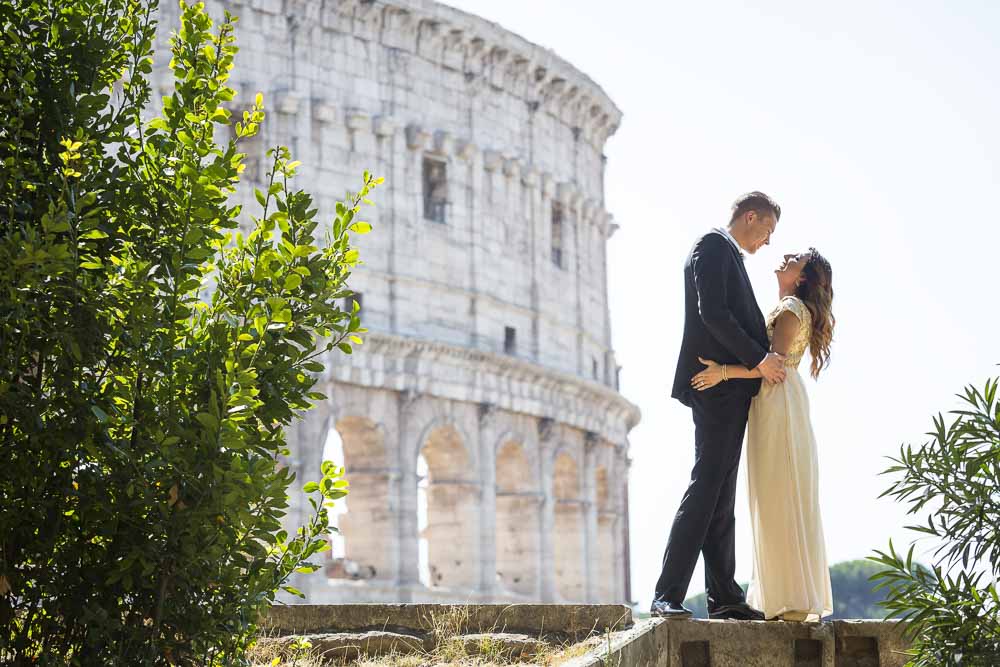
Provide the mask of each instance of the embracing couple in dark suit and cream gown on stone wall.
{"label": "embracing couple in dark suit and cream gown on stone wall", "polygon": [[[819,511],[816,440],[798,366],[830,358],[832,270],[815,249],[785,255],[778,304],[765,319],[744,253],[770,243],[781,208],[751,192],[727,227],[701,237],[684,265],[684,337],[674,398],[691,409],[695,463],[670,530],[651,613],[683,618],[698,554],[709,617],[815,620],[833,611]],[[747,436],[753,580],[736,583],[736,476]]]}

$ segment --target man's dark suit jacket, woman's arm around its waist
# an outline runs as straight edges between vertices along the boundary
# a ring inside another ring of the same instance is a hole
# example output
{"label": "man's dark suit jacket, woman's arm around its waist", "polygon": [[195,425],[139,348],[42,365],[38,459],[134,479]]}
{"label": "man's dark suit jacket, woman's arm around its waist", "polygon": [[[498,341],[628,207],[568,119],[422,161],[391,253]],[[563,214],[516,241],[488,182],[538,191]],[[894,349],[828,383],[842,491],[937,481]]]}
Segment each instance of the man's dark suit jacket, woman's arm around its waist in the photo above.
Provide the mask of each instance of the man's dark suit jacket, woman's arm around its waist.
{"label": "man's dark suit jacket, woman's arm around its waist", "polygon": [[[767,326],[743,266],[743,258],[717,231],[694,244],[684,263],[684,338],[672,396],[691,405],[691,378],[705,369],[698,357],[755,368],[770,349]],[[730,380],[704,392],[706,399],[731,392],[754,396],[760,380]]]}

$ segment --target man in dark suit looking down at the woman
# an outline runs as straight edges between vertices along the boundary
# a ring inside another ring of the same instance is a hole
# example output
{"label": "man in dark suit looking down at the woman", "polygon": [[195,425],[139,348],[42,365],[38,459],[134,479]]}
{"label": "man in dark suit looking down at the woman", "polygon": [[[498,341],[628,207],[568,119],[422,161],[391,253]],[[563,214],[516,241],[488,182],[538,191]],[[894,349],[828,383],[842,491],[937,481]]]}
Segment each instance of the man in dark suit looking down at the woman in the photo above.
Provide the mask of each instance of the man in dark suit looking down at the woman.
{"label": "man in dark suit looking down at the woman", "polygon": [[734,515],[743,434],[761,381],[731,380],[698,392],[691,378],[703,369],[702,357],[784,381],[784,357],[769,352],[764,316],[743,266],[743,252],[768,245],[780,217],[781,208],[764,193],[744,195],[733,204],[729,225],[702,236],[684,264],[684,337],[672,396],[691,408],[695,463],[663,555],[654,616],[691,615],[681,603],[701,552],[709,617],[764,620],[736,583]]}

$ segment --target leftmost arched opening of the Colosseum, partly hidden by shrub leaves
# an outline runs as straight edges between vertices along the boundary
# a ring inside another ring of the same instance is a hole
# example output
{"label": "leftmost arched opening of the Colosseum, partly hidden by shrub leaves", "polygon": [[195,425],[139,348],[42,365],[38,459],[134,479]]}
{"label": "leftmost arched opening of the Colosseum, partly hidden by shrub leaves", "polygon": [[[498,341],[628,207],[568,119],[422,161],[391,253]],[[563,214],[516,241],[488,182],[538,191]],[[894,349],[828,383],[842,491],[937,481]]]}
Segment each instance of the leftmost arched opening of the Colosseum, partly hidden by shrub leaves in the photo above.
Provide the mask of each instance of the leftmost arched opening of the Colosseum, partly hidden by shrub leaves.
{"label": "leftmost arched opening of the Colosseum, partly hidden by shrub leaves", "polygon": [[335,428],[336,433],[331,433],[327,440],[333,454],[329,459],[344,466],[351,486],[347,498],[334,505],[340,535],[333,541],[333,560],[327,567],[327,576],[391,579],[396,560],[390,548],[393,543],[389,507],[391,471],[385,460],[382,431],[370,419],[356,416],[339,419]]}

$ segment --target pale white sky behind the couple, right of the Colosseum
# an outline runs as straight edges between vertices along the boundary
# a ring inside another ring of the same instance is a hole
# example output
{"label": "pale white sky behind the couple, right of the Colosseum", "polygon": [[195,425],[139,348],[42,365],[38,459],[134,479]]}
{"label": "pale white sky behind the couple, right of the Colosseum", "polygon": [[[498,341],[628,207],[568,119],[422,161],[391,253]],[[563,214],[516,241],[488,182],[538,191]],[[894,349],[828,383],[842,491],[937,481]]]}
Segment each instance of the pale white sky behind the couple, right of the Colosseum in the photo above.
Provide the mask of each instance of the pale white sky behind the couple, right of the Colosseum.
{"label": "pale white sky behind the couple, right of the Colosseum", "polygon": [[[607,146],[614,345],[632,432],[632,590],[647,607],[693,462],[669,398],[685,255],[760,189],[784,214],[748,258],[775,301],[781,254],[834,269],[833,365],[808,381],[830,562],[907,538],[876,497],[883,457],[997,374],[1000,4],[987,0],[451,0],[554,49],[624,111]],[[808,360],[803,362],[803,366]],[[805,369],[803,369],[805,370]],[[746,487],[737,576],[750,576]],[[702,570],[689,594],[701,592]]]}

